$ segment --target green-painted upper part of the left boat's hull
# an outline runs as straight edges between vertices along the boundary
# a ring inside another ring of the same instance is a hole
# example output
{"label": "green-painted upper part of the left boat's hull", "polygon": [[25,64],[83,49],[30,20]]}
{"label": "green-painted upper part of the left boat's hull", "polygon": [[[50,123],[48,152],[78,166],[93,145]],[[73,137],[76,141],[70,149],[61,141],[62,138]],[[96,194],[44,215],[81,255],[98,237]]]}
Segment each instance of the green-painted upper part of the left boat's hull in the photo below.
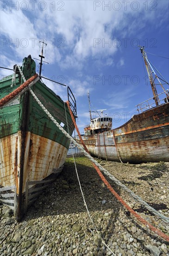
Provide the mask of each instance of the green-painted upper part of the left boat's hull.
{"label": "green-painted upper part of the left boat's hull", "polygon": [[[25,58],[27,59],[27,58]],[[24,60],[25,60],[24,59]],[[32,60],[31,60],[32,61]],[[25,62],[25,61],[24,61]],[[30,75],[31,77],[35,74],[35,67],[31,64]],[[22,83],[23,81],[21,81]],[[19,77],[16,79],[16,86],[11,88],[12,76],[0,81],[0,99],[8,95],[14,89],[20,86]],[[56,119],[57,122],[64,124],[64,129],[72,134],[74,125],[69,114],[69,109],[62,99],[57,96],[50,88],[44,85],[41,81],[38,81],[31,87],[34,93],[38,96],[38,99],[42,102],[45,108],[48,109],[51,115]],[[27,92],[26,102],[25,94],[22,95],[15,105],[13,102],[10,106],[6,106],[0,109],[0,138],[7,135],[12,135],[19,130],[22,130],[23,118],[26,115],[26,131],[30,131],[33,134],[43,136],[52,141],[56,141],[62,144],[64,147],[69,148],[69,140],[63,135],[63,133],[56,127],[53,121],[44,113],[42,108],[33,99],[32,95]],[[24,102],[26,104],[26,113],[24,113]],[[65,114],[66,111],[66,114]],[[66,115],[68,120],[68,127],[66,121]]]}

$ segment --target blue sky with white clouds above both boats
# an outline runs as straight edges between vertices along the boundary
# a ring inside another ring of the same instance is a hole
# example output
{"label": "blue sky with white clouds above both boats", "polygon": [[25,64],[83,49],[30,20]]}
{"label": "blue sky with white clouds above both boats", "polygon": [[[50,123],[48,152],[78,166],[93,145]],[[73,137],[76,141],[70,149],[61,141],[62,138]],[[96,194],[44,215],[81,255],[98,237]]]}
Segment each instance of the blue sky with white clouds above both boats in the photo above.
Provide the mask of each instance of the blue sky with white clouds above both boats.
{"label": "blue sky with white clouds above both boats", "polygon": [[[88,90],[92,110],[107,109],[113,128],[137,114],[135,105],[152,97],[138,44],[151,53],[149,60],[169,81],[169,59],[156,56],[169,58],[168,0],[1,0],[0,4],[0,66],[21,65],[29,54],[38,58],[38,41],[44,39],[49,64],[44,64],[42,75],[69,85],[81,133],[90,121]],[[8,74],[0,70],[1,77]],[[45,83],[67,100],[66,88]]]}

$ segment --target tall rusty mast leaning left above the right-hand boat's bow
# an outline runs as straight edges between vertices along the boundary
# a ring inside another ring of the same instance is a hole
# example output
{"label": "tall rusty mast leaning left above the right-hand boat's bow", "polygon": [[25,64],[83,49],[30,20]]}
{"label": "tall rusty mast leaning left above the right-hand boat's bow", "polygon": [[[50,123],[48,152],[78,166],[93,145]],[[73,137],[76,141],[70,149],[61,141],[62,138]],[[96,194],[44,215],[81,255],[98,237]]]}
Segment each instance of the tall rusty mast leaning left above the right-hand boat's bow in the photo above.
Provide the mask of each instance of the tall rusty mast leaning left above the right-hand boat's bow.
{"label": "tall rusty mast leaning left above the right-hand boat's bow", "polygon": [[[140,47],[140,51],[141,53],[143,54],[143,58],[144,58],[144,62],[145,62],[145,67],[147,69],[147,73],[148,73],[148,76],[149,76],[149,80],[150,80],[150,85],[151,85],[151,89],[152,89],[152,92],[153,92],[153,96],[154,96],[154,100],[156,102],[156,106],[158,106],[160,103],[160,100],[158,98],[158,94],[157,94],[157,91],[156,91],[156,85],[154,83],[154,79],[153,79],[153,76],[152,76],[152,73],[155,73],[154,70],[152,69],[152,67],[150,66],[150,63],[147,59],[147,54],[146,52],[144,51],[144,46],[139,46]],[[151,70],[152,69],[152,70]]]}

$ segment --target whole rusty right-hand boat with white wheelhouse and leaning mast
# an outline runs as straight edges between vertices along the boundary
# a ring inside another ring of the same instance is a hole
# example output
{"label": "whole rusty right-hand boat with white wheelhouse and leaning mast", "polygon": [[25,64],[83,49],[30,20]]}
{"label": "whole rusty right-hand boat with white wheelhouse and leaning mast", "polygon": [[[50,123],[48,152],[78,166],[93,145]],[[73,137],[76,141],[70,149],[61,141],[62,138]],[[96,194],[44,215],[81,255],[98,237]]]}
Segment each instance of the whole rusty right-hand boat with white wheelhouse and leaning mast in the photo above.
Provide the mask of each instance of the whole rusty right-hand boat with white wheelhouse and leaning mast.
{"label": "whole rusty right-hand boat with white wheelhouse and leaning mast", "polygon": [[[89,100],[90,125],[84,128],[82,139],[93,156],[130,163],[169,162],[169,90],[163,87],[169,83],[156,75],[144,47],[140,50],[153,97],[138,104],[138,115],[115,129],[112,129],[112,118],[103,117],[103,110],[100,117],[92,119]],[[157,84],[163,90],[160,94],[156,91]]]}

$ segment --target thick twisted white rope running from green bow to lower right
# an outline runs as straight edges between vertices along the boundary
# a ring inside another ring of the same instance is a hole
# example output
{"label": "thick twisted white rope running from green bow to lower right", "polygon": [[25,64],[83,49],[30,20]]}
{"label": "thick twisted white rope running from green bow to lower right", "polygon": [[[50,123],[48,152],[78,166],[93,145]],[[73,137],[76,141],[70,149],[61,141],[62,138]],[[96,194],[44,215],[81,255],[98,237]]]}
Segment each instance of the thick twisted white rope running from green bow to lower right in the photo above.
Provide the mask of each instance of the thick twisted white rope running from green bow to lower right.
{"label": "thick twisted white rope running from green bow to lower right", "polygon": [[[28,86],[29,87],[29,86]],[[77,148],[79,148],[84,155],[86,155],[91,162],[93,162],[97,167],[100,168],[101,171],[104,172],[105,175],[107,175],[111,180],[113,180],[113,182],[115,182],[118,186],[120,186],[122,189],[124,189],[126,192],[128,192],[134,199],[136,199],[138,202],[140,202],[141,204],[144,205],[145,208],[147,208],[150,212],[152,212],[155,216],[161,218],[163,220],[163,222],[165,223],[169,223],[169,218],[167,218],[166,216],[163,216],[162,214],[160,214],[158,211],[156,211],[154,208],[152,208],[148,203],[144,202],[141,197],[139,197],[138,195],[135,195],[133,191],[131,191],[130,189],[128,189],[124,184],[122,184],[121,182],[119,182],[118,179],[116,179],[112,174],[110,174],[105,168],[103,168],[97,161],[94,160],[94,158],[89,155],[84,148],[82,148],[80,146],[79,143],[77,143],[63,128],[62,126],[60,126],[60,124],[54,119],[54,117],[49,113],[49,111],[44,107],[44,105],[38,100],[38,97],[34,94],[34,92],[31,90],[30,88],[30,92],[32,94],[32,96],[34,97],[34,99],[38,102],[38,104],[41,106],[41,108],[44,110],[44,112],[46,113],[46,115],[48,115],[50,117],[50,119],[56,124],[56,126],[63,132],[63,134],[65,136],[67,136],[69,138],[70,141],[72,141],[75,146]]]}

